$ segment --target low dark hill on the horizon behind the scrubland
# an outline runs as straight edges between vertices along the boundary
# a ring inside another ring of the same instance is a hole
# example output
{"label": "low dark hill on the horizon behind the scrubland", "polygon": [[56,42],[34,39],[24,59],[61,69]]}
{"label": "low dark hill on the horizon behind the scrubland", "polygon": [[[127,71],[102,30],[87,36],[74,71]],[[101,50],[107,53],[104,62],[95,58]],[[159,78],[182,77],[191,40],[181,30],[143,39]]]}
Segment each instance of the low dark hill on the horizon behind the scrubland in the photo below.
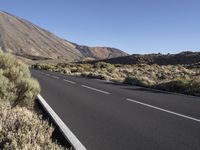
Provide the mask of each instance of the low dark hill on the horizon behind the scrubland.
{"label": "low dark hill on the horizon behind the scrubland", "polygon": [[[177,65],[177,64],[194,64],[200,62],[200,52],[181,52],[178,54],[134,54],[118,58],[101,60],[111,64],[158,64],[158,65]],[[95,63],[97,61],[91,61]]]}

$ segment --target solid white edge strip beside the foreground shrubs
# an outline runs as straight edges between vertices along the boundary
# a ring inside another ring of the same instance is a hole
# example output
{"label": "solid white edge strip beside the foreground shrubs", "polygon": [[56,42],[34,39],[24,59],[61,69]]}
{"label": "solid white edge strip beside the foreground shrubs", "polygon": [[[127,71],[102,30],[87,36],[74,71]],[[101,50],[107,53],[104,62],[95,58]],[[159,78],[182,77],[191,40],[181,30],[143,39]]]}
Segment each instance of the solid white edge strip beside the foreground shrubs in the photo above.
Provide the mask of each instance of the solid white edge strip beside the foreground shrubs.
{"label": "solid white edge strip beside the foreground shrubs", "polygon": [[66,126],[66,124],[60,119],[60,117],[55,113],[55,111],[49,106],[49,104],[44,100],[44,98],[38,94],[37,95],[41,105],[46,109],[46,111],[51,115],[55,123],[59,126],[64,136],[69,140],[75,150],[86,150],[85,146],[78,140],[78,138],[72,133],[72,131]]}

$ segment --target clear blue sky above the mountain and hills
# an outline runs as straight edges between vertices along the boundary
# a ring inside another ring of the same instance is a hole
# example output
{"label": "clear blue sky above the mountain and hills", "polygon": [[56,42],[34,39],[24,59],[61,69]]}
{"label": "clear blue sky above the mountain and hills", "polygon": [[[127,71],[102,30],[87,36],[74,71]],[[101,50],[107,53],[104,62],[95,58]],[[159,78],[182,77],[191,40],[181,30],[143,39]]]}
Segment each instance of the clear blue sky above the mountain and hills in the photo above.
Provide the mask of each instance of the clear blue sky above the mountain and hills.
{"label": "clear blue sky above the mountain and hills", "polygon": [[0,9],[78,44],[130,54],[200,50],[200,0],[1,0]]}

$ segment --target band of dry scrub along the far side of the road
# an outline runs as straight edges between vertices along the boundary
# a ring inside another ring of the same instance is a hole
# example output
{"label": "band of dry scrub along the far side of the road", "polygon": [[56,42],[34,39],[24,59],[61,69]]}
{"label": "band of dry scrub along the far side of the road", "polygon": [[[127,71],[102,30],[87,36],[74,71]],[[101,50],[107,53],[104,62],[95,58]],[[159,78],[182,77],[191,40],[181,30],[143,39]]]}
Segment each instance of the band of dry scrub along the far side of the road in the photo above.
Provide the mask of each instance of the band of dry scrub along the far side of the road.
{"label": "band of dry scrub along the far side of the road", "polygon": [[34,68],[200,96],[200,67],[193,65],[37,63]]}

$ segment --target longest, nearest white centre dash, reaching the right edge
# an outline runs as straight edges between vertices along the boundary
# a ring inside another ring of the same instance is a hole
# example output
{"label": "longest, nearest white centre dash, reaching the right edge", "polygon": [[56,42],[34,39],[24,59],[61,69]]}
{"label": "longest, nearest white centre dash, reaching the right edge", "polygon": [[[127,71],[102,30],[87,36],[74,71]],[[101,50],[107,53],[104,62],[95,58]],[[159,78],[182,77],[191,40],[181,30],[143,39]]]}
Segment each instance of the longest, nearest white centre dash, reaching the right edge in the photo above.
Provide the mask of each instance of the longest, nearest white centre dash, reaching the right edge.
{"label": "longest, nearest white centre dash, reaching the right edge", "polygon": [[193,118],[193,117],[190,117],[190,116],[182,115],[182,114],[170,111],[170,110],[166,110],[166,109],[163,109],[163,108],[160,108],[160,107],[156,107],[156,106],[153,106],[153,105],[138,102],[138,101],[135,101],[135,100],[132,100],[132,99],[129,99],[129,98],[127,98],[126,100],[200,123],[199,119],[196,119],[196,118]]}

